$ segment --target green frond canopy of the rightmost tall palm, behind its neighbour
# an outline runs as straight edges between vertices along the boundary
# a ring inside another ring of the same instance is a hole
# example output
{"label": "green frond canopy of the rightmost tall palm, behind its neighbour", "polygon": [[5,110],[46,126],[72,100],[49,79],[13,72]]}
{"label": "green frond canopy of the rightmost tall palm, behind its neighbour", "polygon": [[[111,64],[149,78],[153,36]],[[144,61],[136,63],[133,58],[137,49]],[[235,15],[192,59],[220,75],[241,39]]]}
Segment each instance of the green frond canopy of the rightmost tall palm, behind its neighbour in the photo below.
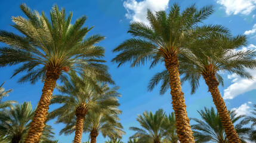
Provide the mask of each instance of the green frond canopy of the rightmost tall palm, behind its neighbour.
{"label": "green frond canopy of the rightmost tall palm, behind its neighbour", "polygon": [[[179,55],[179,71],[181,82],[189,81],[191,94],[199,86],[199,80],[206,74],[215,75],[223,85],[220,72],[227,71],[242,77],[252,78],[246,69],[255,69],[255,50],[238,49],[246,45],[246,36],[229,36],[214,34],[191,42],[190,54]],[[189,46],[188,46],[189,47]],[[148,89],[152,91],[162,81],[160,94],[165,94],[169,88],[169,74],[167,70],[155,74],[150,80]]]}

